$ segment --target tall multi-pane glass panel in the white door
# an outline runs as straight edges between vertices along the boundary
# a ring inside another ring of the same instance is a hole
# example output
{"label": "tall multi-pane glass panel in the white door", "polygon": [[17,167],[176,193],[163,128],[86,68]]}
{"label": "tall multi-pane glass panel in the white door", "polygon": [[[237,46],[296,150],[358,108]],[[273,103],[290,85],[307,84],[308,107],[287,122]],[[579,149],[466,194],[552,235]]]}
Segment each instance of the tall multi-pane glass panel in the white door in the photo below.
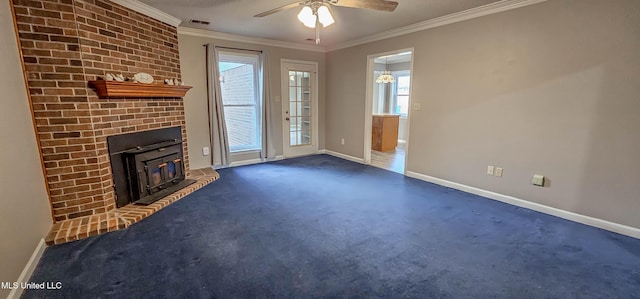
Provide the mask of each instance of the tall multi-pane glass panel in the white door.
{"label": "tall multi-pane glass panel in the white door", "polygon": [[311,144],[311,73],[289,71],[289,145]]}

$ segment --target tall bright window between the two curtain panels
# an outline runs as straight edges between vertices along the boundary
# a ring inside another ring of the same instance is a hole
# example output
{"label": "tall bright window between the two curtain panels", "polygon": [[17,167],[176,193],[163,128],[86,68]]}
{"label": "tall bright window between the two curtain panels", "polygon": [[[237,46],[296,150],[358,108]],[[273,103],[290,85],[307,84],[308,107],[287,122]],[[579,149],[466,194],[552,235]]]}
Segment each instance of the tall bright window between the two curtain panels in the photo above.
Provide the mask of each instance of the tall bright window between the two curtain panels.
{"label": "tall bright window between the two curtain panels", "polygon": [[258,56],[220,52],[220,88],[231,152],[262,147]]}

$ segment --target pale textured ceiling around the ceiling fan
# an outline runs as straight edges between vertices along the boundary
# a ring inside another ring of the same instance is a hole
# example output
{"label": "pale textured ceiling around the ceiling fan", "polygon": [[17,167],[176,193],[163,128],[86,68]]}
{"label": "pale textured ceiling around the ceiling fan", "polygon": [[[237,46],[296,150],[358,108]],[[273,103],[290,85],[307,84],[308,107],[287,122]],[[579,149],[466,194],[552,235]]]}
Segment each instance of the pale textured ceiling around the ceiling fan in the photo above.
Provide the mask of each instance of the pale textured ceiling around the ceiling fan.
{"label": "pale textured ceiling around the ceiling fan", "polygon": [[[434,19],[497,0],[396,0],[394,12],[333,7],[336,23],[322,28],[322,46],[335,46],[375,33]],[[281,41],[314,44],[315,31],[298,22],[299,8],[281,11],[263,18],[253,15],[294,3],[295,0],[141,0],[141,2],[183,21],[180,26]],[[205,20],[210,25],[189,23]]]}

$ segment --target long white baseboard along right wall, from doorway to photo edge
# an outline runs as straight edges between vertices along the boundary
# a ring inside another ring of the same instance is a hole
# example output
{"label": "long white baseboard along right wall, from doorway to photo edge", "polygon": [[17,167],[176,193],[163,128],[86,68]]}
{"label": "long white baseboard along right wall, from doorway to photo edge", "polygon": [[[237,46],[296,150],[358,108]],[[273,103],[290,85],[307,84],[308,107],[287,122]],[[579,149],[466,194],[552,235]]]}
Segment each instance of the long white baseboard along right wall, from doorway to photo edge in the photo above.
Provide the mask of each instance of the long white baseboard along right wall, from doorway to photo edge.
{"label": "long white baseboard along right wall, from doorway to photo edge", "polygon": [[531,209],[531,210],[538,211],[538,212],[541,212],[541,213],[557,216],[557,217],[564,218],[564,219],[567,219],[567,220],[571,220],[571,221],[574,221],[574,222],[586,224],[586,225],[589,225],[589,226],[593,226],[593,227],[601,228],[601,229],[604,229],[604,230],[612,231],[614,233],[618,233],[618,234],[622,234],[622,235],[625,235],[625,236],[629,236],[629,237],[640,239],[640,229],[639,228],[635,228],[635,227],[631,227],[631,226],[627,226],[627,225],[623,225],[623,224],[619,224],[619,223],[614,223],[614,222],[611,222],[611,221],[607,221],[607,220],[603,220],[603,219],[599,219],[599,218],[594,218],[594,217],[591,217],[591,216],[581,215],[581,214],[577,214],[577,213],[574,213],[574,212],[561,210],[561,209],[558,209],[558,208],[554,208],[554,207],[550,207],[550,206],[547,206],[547,205],[542,205],[542,204],[539,204],[539,203],[527,201],[527,200],[520,199],[520,198],[517,198],[517,197],[504,195],[504,194],[500,194],[500,193],[495,193],[495,192],[487,191],[487,190],[484,190],[484,189],[480,189],[480,188],[476,188],[476,187],[471,187],[471,186],[467,186],[467,185],[463,185],[463,184],[459,184],[459,183],[455,183],[455,182],[439,179],[439,178],[436,178],[436,177],[424,175],[424,174],[413,172],[413,171],[407,171],[406,175],[408,177],[412,177],[412,178],[415,178],[415,179],[427,181],[427,182],[430,182],[430,183],[434,183],[434,184],[437,184],[437,185],[441,185],[441,186],[457,189],[457,190],[468,192],[468,193],[475,194],[475,195],[480,195],[480,196],[483,196],[483,197],[486,197],[486,198],[490,198],[490,199],[493,199],[493,200],[501,201],[501,202],[508,203],[508,204],[511,204],[511,205],[514,205],[514,206]]}

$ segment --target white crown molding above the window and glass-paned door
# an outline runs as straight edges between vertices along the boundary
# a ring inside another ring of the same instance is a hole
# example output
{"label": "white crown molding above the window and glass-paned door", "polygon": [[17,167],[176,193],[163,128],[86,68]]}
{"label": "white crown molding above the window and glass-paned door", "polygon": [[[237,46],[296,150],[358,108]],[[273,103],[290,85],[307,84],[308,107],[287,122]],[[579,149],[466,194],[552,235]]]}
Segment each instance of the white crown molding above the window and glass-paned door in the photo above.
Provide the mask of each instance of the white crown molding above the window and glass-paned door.
{"label": "white crown molding above the window and glass-paned door", "polygon": [[326,48],[321,46],[316,46],[316,45],[305,45],[305,44],[279,41],[274,39],[250,37],[250,36],[244,36],[244,35],[189,28],[189,27],[183,27],[183,26],[178,27],[178,34],[207,37],[207,38],[213,38],[213,39],[222,39],[227,41],[250,43],[250,44],[257,44],[257,45],[273,46],[273,47],[280,47],[280,48],[287,48],[287,49],[296,49],[296,50],[323,52],[323,53],[327,52]]}

